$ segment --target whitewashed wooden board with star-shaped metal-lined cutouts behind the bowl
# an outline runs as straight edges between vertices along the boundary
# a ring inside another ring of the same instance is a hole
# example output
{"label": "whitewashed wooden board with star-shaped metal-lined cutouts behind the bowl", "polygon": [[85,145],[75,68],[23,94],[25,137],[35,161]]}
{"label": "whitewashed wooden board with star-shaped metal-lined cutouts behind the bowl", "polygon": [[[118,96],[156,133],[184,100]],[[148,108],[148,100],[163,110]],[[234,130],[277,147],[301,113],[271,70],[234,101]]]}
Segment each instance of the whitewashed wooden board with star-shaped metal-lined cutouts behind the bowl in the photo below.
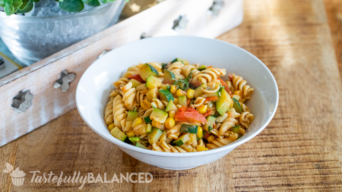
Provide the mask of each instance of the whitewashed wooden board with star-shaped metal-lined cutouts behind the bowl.
{"label": "whitewashed wooden board with star-shaped metal-lined cutouts behind the bowl", "polygon": [[[111,50],[147,36],[195,35],[217,36],[240,25],[243,19],[243,0],[223,0],[218,16],[209,8],[212,0],[166,0],[138,13],[94,36],[65,48],[54,55],[0,79],[0,146],[31,132],[53,119],[76,108],[75,91],[83,72],[104,49]],[[173,21],[186,15],[188,23],[182,32],[172,29]],[[63,70],[76,78],[67,92],[54,89]],[[20,90],[34,95],[25,113],[15,114],[10,107]]]}

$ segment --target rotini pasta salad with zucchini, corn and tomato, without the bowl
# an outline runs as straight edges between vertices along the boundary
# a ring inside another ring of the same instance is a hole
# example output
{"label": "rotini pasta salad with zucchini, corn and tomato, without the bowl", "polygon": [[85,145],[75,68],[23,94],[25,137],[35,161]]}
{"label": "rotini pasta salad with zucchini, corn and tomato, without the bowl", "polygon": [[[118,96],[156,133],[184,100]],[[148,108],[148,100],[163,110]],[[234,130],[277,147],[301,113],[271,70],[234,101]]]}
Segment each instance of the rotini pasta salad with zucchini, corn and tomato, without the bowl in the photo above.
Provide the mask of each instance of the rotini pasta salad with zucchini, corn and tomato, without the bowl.
{"label": "rotini pasta salad with zucchini, corn and tomato, without the bowl", "polygon": [[154,151],[228,145],[254,120],[245,103],[254,89],[234,73],[223,81],[226,74],[226,69],[179,58],[129,67],[113,83],[104,121],[117,139]]}

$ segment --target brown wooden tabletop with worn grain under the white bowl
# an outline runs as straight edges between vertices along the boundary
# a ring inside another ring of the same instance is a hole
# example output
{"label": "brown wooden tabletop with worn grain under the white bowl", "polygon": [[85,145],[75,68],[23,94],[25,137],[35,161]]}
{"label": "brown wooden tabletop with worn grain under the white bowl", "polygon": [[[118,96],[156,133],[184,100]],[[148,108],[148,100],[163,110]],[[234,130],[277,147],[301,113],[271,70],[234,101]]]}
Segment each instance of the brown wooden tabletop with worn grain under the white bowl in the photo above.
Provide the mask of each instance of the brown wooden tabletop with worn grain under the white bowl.
{"label": "brown wooden tabletop with worn grain under the white bowl", "polygon": [[210,164],[171,171],[131,158],[75,109],[0,148],[1,170],[9,162],[26,173],[19,187],[1,173],[0,191],[79,190],[31,183],[37,170],[153,175],[150,183],[86,183],[82,191],[342,191],[342,1],[246,0],[242,25],[219,39],[260,58],[277,80],[277,112],[255,138]]}

